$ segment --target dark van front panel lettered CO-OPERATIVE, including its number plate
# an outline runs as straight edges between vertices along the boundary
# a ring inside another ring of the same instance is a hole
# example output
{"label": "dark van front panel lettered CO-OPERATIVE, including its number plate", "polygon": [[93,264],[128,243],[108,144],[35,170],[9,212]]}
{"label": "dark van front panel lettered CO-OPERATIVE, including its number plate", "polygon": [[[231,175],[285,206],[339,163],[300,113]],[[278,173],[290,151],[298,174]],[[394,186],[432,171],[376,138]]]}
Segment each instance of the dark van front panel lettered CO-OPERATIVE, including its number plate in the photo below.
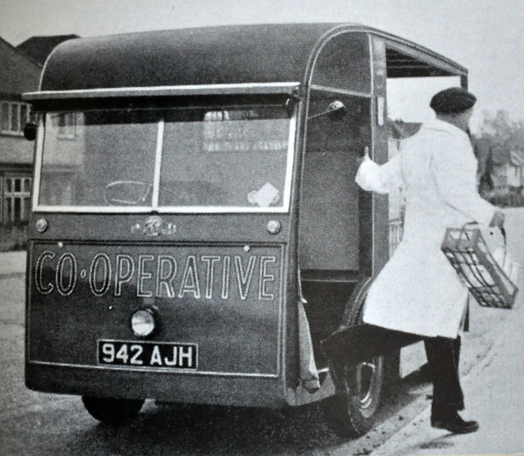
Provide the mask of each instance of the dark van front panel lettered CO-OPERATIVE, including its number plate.
{"label": "dark van front panel lettered CO-OPERATIVE, including its number plate", "polygon": [[[162,388],[153,383],[187,384],[183,377],[208,386],[220,379],[215,386],[226,389],[243,377],[272,379],[283,393],[283,255],[283,246],[261,243],[33,242],[28,383],[49,389],[43,368],[54,366],[90,373],[54,376],[53,391],[62,378],[63,392],[80,391],[96,371],[100,381],[90,389],[99,395],[109,388],[125,396],[136,384],[141,394],[158,396]],[[135,336],[130,325],[140,308],[154,312],[148,338]],[[129,383],[115,388],[114,380],[125,376]],[[178,399],[185,401],[182,391]]]}

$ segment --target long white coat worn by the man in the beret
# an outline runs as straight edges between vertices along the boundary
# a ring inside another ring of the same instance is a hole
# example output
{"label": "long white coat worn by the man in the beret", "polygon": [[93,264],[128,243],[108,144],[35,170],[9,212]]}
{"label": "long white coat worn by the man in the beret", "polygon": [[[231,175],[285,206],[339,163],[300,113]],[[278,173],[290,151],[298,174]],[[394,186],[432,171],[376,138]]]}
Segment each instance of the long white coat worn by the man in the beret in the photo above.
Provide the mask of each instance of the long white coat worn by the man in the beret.
{"label": "long white coat worn by the man in the beret", "polygon": [[467,290],[440,247],[446,228],[470,221],[488,225],[495,207],[476,190],[477,161],[470,139],[442,120],[422,125],[384,165],[358,169],[364,190],[389,193],[403,183],[402,241],[371,285],[364,322],[421,336],[455,338]]}

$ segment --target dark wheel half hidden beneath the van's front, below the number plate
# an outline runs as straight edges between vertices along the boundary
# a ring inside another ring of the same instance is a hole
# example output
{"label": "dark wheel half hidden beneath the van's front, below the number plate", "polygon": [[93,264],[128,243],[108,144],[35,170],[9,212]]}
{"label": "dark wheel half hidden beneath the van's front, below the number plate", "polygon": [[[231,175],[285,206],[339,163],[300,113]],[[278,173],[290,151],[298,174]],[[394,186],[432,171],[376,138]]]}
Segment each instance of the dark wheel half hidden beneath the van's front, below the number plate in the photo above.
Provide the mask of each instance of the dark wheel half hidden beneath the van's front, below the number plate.
{"label": "dark wheel half hidden beneath the van's front, below the number plate", "polygon": [[111,425],[122,425],[132,420],[144,405],[143,399],[93,396],[82,396],[82,402],[93,418]]}

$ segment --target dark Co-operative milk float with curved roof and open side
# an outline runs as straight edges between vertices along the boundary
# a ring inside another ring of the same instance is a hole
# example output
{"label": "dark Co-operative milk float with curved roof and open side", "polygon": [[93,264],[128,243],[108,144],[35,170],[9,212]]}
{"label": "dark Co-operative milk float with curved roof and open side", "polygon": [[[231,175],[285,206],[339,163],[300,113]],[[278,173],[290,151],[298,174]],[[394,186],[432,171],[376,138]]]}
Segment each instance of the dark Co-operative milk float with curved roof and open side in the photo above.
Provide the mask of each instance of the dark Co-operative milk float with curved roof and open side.
{"label": "dark Co-operative milk float with curved roof and open side", "polygon": [[370,358],[335,385],[320,342],[358,324],[388,259],[388,199],[354,182],[366,149],[388,158],[386,81],[429,76],[467,85],[451,60],[353,24],[59,45],[24,95],[27,386],[112,423],[145,399],[325,399],[339,434],[365,433],[396,364]]}

